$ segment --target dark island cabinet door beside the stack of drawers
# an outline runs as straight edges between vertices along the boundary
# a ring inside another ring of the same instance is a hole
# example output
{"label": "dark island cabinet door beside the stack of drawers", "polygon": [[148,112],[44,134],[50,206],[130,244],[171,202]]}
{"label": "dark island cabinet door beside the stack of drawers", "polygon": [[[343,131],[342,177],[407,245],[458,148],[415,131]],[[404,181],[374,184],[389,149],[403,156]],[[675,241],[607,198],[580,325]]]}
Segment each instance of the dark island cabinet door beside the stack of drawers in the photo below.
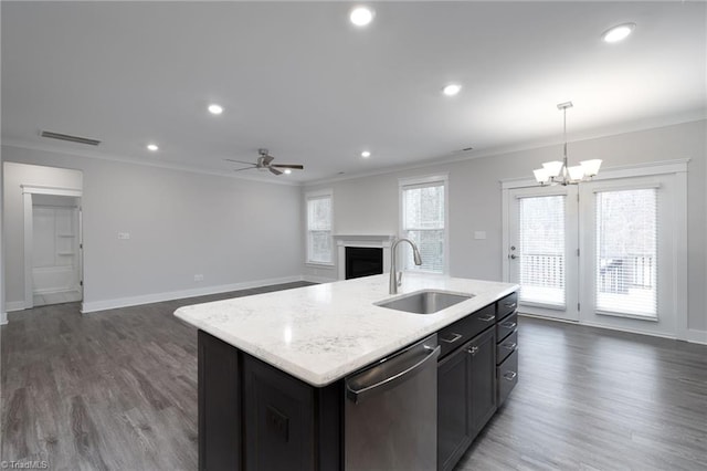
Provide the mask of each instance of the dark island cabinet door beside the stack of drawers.
{"label": "dark island cabinet door beside the stack of drawers", "polygon": [[469,362],[472,438],[496,411],[496,331],[489,328],[466,347]]}

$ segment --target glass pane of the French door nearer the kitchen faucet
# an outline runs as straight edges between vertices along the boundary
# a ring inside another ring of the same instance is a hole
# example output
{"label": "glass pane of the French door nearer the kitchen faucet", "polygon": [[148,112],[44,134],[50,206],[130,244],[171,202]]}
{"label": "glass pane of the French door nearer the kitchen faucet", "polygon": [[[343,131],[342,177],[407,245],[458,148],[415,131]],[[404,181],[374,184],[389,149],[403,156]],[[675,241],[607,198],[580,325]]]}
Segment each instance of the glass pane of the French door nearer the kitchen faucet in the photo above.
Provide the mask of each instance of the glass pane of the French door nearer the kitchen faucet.
{"label": "glass pane of the French door nearer the kitchen faucet", "polygon": [[519,301],[558,307],[564,292],[564,196],[518,199]]}

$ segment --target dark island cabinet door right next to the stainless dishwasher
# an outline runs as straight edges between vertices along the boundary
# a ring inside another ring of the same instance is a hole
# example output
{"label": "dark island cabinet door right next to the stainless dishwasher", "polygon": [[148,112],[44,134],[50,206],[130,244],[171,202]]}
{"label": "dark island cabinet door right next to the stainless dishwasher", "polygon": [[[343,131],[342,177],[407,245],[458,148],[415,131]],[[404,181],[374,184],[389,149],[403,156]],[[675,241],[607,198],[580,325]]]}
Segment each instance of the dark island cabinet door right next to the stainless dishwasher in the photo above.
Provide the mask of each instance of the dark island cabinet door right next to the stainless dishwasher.
{"label": "dark island cabinet door right next to the stainless dishwasher", "polygon": [[468,345],[437,366],[437,470],[451,470],[472,442]]}

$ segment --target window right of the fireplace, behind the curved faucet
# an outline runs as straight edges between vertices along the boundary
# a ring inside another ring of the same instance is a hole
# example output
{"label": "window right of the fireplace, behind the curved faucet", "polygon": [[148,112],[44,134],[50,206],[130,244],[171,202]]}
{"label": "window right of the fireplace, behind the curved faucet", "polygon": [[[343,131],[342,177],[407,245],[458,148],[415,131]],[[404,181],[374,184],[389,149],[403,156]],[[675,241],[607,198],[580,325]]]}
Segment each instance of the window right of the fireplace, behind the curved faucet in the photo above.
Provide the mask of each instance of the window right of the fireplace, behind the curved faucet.
{"label": "window right of the fireplace, behind the curved faucet", "polygon": [[415,265],[412,251],[405,245],[405,270],[446,271],[446,176],[400,181],[402,237],[412,240],[422,255],[422,265]]}

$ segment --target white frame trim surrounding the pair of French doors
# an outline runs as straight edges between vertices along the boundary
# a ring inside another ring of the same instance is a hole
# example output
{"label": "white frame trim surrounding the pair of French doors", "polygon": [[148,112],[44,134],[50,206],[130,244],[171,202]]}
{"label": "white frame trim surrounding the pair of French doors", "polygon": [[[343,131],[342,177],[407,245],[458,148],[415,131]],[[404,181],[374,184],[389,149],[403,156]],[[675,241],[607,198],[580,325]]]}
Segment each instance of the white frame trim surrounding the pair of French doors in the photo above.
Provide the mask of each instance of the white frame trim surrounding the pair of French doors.
{"label": "white frame trim surrounding the pair of French doors", "polygon": [[[672,307],[675,310],[675,333],[674,335],[667,335],[672,338],[680,341],[688,341],[688,326],[687,326],[687,164],[689,158],[674,159],[674,160],[659,160],[640,165],[626,165],[621,167],[610,167],[602,169],[602,171],[595,176],[592,181],[601,180],[615,180],[619,178],[631,177],[650,177],[656,175],[674,175],[676,191],[673,195],[675,198],[675,227],[673,228],[673,248],[672,257],[674,257],[675,268],[669,283],[672,284],[673,303]],[[508,282],[510,280],[510,263],[508,257],[509,251],[509,230],[510,230],[510,205],[513,205],[514,198],[510,196],[510,190],[517,188],[539,188],[540,186],[532,178],[514,178],[500,180],[502,186],[502,274],[503,281]],[[582,184],[580,184],[582,185]],[[581,269],[580,269],[581,272]],[[580,296],[581,297],[581,296]],[[579,324],[585,324],[582,321],[582,316],[579,317]],[[597,327],[620,329],[623,332],[635,332],[646,335],[664,336],[656,333],[645,332],[641,329],[633,329],[627,327],[615,327],[611,325],[598,325]]]}

